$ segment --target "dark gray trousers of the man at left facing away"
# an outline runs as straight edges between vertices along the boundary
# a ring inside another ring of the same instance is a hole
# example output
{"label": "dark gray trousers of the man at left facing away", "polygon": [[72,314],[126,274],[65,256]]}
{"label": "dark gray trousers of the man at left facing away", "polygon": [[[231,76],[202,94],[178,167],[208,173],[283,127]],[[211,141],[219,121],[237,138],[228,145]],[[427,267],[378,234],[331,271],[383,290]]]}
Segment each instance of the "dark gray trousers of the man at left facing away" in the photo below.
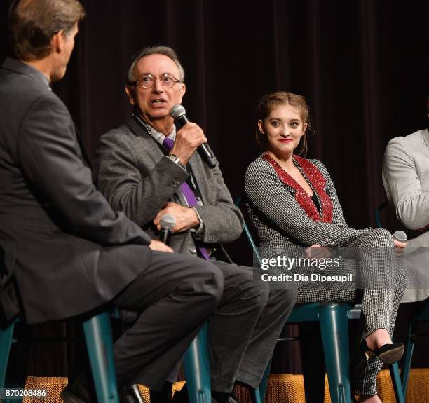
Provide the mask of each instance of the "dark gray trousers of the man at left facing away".
{"label": "dark gray trousers of the man at left facing away", "polygon": [[[114,248],[104,251],[100,264],[113,257],[111,251]],[[136,264],[136,259],[130,256],[130,261],[122,264]],[[153,252],[147,268],[113,301],[118,308],[138,313],[114,346],[118,382],[161,390],[207,317],[214,313],[223,286],[222,273],[210,261]]]}

